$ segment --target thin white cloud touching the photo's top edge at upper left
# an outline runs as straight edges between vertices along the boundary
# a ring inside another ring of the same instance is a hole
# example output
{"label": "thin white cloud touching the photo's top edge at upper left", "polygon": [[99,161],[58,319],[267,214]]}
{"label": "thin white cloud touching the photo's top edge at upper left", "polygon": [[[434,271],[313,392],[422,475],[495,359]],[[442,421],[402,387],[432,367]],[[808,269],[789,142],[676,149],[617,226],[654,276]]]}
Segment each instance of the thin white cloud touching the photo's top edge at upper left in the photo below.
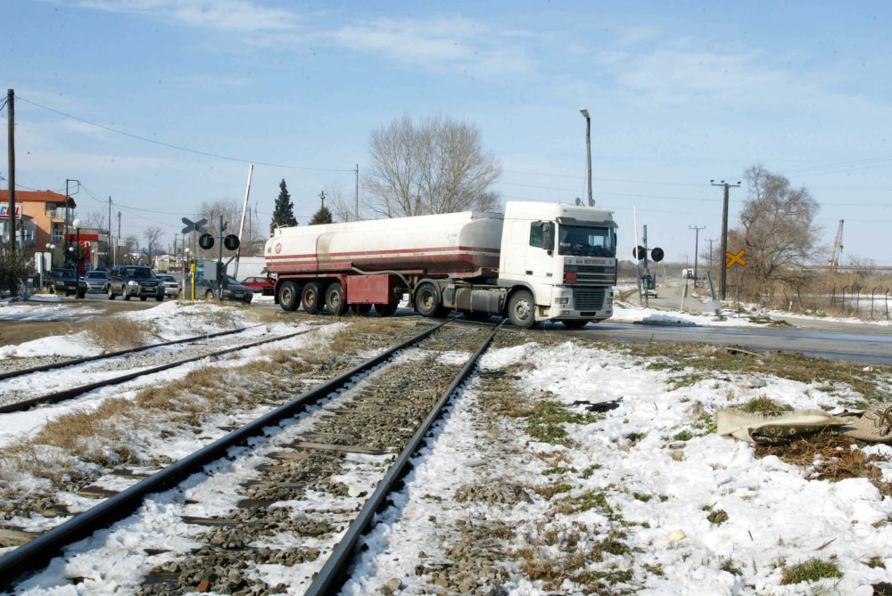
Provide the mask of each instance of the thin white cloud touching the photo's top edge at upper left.
{"label": "thin white cloud touching the photo's top edge at upper left", "polygon": [[293,12],[248,0],[79,0],[78,6],[225,31],[285,31],[297,21]]}

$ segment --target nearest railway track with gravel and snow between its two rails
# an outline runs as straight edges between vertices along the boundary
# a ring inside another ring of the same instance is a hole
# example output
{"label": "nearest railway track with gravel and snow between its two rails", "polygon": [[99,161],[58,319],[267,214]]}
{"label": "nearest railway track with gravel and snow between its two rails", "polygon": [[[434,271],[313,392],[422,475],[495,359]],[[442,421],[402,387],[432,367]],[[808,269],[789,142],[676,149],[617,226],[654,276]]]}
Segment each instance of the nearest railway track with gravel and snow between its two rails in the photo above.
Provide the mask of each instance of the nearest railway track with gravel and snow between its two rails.
{"label": "nearest railway track with gravel and snow between its two rails", "polygon": [[[122,488],[119,475],[117,488],[87,487],[101,503],[0,558],[0,589],[97,528],[161,500],[178,511],[199,546],[182,551],[143,541],[134,556],[150,559],[153,570],[136,593],[275,592],[257,568],[281,564],[302,574],[295,581],[306,593],[331,592],[343,582],[359,536],[494,335],[491,326],[441,323],[147,478],[131,475],[130,486]],[[177,488],[186,478],[191,488]],[[213,486],[227,486],[228,505]],[[207,514],[213,510],[219,513]],[[111,533],[126,534],[139,517]]]}

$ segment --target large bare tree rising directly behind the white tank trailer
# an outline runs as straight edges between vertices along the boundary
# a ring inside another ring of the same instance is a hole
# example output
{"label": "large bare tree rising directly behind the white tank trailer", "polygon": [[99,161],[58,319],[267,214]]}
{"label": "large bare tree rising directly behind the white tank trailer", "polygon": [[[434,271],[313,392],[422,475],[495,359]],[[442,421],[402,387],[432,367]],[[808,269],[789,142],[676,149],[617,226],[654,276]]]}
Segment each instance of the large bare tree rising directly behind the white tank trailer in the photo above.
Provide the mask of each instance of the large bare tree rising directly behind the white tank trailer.
{"label": "large bare tree rising directly behind the white tank trailer", "polygon": [[491,209],[501,166],[484,153],[473,125],[438,115],[418,126],[408,115],[372,133],[368,208],[388,216]]}

